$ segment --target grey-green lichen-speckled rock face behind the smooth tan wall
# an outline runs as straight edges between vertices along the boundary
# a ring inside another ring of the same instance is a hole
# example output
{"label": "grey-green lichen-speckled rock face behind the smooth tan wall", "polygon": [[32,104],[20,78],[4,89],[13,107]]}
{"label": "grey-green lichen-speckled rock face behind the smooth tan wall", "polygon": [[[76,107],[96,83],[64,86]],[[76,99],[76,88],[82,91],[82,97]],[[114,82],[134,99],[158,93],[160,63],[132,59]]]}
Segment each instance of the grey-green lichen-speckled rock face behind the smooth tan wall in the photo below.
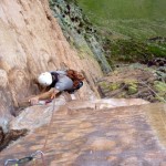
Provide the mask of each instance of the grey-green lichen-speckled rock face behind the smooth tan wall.
{"label": "grey-green lichen-speckled rock face behind the smooth tan wall", "polygon": [[102,39],[76,1],[50,0],[50,8],[68,41],[74,44],[80,52],[86,51],[92,54],[104,73],[111,72],[111,65],[106,61],[101,44]]}

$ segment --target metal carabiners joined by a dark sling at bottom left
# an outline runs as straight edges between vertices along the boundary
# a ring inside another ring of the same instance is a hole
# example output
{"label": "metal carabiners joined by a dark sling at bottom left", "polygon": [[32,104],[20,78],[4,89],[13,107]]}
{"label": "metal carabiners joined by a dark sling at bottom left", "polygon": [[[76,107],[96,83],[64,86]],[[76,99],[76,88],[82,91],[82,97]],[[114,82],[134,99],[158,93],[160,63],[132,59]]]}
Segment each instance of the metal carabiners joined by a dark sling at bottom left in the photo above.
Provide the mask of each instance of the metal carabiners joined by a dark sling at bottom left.
{"label": "metal carabiners joined by a dark sling at bottom left", "polygon": [[[40,158],[38,155],[41,155]],[[4,163],[4,166],[11,165],[11,166],[19,166],[20,164],[25,164],[34,159],[42,159],[43,166],[44,164],[44,154],[41,151],[37,151],[35,153],[31,154],[30,156],[23,157],[23,158],[14,158],[14,159],[7,159]]]}

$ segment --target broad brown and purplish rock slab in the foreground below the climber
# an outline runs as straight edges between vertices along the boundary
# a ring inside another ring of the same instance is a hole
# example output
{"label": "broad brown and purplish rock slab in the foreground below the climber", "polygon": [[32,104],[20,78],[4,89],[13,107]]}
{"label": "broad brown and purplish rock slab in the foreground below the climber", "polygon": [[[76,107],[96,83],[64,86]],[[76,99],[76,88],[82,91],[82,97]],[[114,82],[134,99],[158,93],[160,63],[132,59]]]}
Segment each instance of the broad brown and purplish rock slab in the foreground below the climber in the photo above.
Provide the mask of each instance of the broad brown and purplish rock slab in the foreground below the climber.
{"label": "broad brown and purplish rock slab in the foreground below the climber", "polygon": [[[142,102],[137,100],[133,104]],[[49,166],[165,165],[165,143],[157,133],[163,122],[160,115],[154,115],[152,110],[165,114],[166,105],[143,104],[96,108],[91,107],[91,104],[83,107],[84,103],[72,101],[54,112],[50,124],[37,128],[2,151],[0,164],[41,149]],[[160,125],[154,124],[156,118]],[[163,131],[165,134],[166,131]],[[42,165],[42,159],[35,159],[35,164]]]}

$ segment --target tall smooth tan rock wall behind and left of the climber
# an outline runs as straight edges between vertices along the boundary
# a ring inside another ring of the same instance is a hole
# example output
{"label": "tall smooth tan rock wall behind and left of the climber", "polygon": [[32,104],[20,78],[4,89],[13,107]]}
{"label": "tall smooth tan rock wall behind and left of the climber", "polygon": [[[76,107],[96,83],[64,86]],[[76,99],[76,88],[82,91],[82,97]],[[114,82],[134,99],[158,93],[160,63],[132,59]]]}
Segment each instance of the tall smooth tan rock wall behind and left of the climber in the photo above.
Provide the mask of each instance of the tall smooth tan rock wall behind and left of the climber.
{"label": "tall smooth tan rock wall behind and left of the climber", "polygon": [[[13,104],[38,93],[32,80],[44,71],[66,65],[83,71],[89,81],[80,98],[91,96],[94,81],[102,76],[89,53],[79,56],[65,40],[46,0],[0,1],[0,125],[11,118]],[[89,86],[91,85],[91,87]]]}

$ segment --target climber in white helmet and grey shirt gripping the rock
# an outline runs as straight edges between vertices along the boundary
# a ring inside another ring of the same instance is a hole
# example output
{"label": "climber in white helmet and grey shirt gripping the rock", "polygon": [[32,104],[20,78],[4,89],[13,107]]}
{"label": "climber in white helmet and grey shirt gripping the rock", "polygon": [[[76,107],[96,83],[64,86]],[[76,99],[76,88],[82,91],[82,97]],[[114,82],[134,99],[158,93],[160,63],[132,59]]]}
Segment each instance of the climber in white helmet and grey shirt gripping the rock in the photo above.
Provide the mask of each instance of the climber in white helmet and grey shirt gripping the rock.
{"label": "climber in white helmet and grey shirt gripping the rock", "polygon": [[40,100],[52,100],[63,91],[74,93],[83,86],[83,80],[84,76],[74,70],[41,73],[38,77],[38,83],[46,87],[48,91],[31,97],[29,102],[31,105],[35,105]]}

